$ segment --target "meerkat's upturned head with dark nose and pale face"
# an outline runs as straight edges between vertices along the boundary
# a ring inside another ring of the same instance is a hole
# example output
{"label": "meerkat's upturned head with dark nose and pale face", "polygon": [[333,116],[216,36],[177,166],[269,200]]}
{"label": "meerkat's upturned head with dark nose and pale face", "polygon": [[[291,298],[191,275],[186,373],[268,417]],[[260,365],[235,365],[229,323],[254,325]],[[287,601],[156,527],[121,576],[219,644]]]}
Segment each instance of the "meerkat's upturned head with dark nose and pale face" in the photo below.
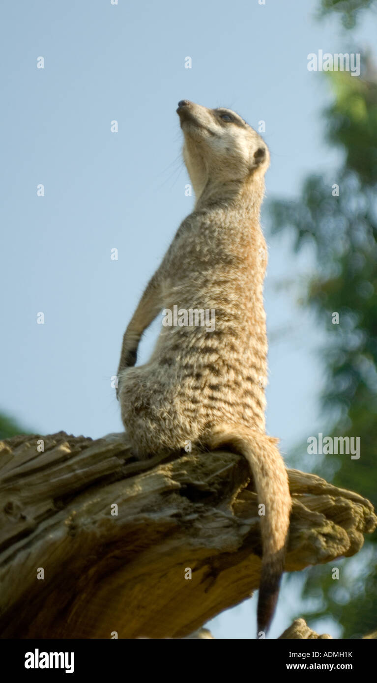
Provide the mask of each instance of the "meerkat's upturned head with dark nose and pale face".
{"label": "meerkat's upturned head with dark nose and pale face", "polygon": [[212,186],[236,182],[251,186],[270,163],[262,137],[230,109],[207,109],[189,100],[178,102],[184,133],[183,158],[197,198]]}

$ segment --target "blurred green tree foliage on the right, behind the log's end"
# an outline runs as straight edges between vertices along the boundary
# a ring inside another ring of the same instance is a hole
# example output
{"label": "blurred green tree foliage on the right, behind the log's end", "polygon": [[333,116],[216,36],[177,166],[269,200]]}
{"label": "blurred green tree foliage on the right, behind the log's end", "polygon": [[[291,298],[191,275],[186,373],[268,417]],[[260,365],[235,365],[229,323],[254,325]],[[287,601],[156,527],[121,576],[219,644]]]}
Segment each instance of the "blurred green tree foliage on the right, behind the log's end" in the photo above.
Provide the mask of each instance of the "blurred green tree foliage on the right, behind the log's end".
{"label": "blurred green tree foliage on the right, behind the log's end", "polygon": [[[361,438],[360,460],[325,456],[338,461],[333,481],[377,506],[377,84],[370,66],[368,80],[346,72],[329,77],[335,101],[325,112],[326,137],[344,150],[344,163],[307,178],[298,201],[273,201],[269,210],[275,232],[294,231],[296,249],[307,240],[315,245],[317,273],[305,301],[328,331],[321,402],[332,428],[326,435]],[[335,311],[339,324],[332,322]],[[346,638],[376,628],[376,559],[374,534],[363,553],[341,565],[340,581],[329,567],[313,568],[304,591],[318,598],[311,617],[335,617]]]}

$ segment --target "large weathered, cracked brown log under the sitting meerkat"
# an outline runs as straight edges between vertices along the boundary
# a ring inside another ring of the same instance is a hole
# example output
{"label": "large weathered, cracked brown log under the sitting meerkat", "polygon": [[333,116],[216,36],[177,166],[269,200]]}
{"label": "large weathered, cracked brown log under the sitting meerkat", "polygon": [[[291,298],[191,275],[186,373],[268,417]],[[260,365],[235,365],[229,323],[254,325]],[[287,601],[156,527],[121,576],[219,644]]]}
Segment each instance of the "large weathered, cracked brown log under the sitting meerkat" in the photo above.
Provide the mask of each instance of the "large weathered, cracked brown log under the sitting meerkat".
{"label": "large weathered, cracked brown log under the sitting meerkat", "polygon": [[[357,553],[371,503],[289,477],[285,569]],[[139,462],[124,436],[16,436],[0,444],[0,499],[3,638],[182,638],[258,587],[257,497],[229,452]]]}

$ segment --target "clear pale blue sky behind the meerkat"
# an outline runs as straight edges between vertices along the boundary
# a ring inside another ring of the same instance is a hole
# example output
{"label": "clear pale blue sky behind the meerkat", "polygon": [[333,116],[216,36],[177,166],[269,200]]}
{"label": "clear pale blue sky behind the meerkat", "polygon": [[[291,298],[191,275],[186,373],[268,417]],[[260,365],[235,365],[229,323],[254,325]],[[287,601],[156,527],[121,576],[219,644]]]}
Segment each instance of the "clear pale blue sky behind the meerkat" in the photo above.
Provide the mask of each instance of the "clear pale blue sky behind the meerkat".
{"label": "clear pale blue sky behind the meerkat", "polygon": [[[372,47],[376,21],[369,14],[361,22],[355,43],[338,18],[313,18],[318,4],[3,4],[2,412],[41,433],[96,438],[122,429],[110,383],[122,335],[193,207],[184,195],[178,100],[231,107],[254,127],[266,122],[266,199],[297,196],[310,172],[337,182],[331,169],[339,156],[324,145],[320,118],[330,94],[322,74],[307,70],[307,55]],[[40,56],[44,69],[36,66]],[[187,56],[191,69],[184,68]],[[112,120],[118,133],[111,133]],[[40,183],[44,197],[37,196]],[[310,249],[298,257],[289,236],[271,238],[266,218],[264,226],[267,425],[289,463],[296,442],[324,430],[317,402],[324,331],[297,304],[313,269]],[[139,362],[158,324],[146,333]],[[287,595],[273,637],[300,612]],[[221,615],[214,634],[253,637],[254,611],[248,602]]]}

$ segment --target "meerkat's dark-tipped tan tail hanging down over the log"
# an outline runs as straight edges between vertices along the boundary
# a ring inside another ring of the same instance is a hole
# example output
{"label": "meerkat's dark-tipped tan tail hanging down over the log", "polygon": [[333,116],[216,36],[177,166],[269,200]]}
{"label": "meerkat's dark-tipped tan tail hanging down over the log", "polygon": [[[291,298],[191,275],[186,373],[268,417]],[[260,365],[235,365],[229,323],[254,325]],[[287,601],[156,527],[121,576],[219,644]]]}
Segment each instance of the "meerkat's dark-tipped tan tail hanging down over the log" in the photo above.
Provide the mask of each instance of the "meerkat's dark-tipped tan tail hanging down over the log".
{"label": "meerkat's dark-tipped tan tail hanging down over the log", "polygon": [[261,515],[262,569],[257,606],[257,630],[267,632],[279,595],[285,549],[290,525],[291,497],[283,458],[277,439],[245,426],[224,424],[214,429],[209,446],[227,446],[249,462],[258,503],[265,505]]}

